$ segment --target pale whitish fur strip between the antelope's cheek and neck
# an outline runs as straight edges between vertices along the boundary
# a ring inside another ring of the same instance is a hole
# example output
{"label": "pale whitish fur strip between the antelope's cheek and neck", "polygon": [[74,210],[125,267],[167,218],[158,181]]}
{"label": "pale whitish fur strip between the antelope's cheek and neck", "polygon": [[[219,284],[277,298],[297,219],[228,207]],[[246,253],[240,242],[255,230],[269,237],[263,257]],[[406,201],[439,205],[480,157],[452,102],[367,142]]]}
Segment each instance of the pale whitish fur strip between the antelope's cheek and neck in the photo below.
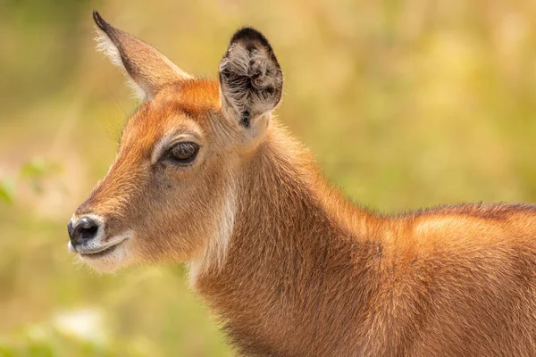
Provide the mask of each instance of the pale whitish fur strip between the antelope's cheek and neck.
{"label": "pale whitish fur strip between the antelope's cheek and neck", "polygon": [[227,186],[222,205],[222,216],[216,225],[214,237],[210,237],[205,252],[197,259],[188,262],[188,281],[196,285],[197,277],[209,269],[221,270],[225,263],[230,236],[236,215],[236,187],[234,183]]}

